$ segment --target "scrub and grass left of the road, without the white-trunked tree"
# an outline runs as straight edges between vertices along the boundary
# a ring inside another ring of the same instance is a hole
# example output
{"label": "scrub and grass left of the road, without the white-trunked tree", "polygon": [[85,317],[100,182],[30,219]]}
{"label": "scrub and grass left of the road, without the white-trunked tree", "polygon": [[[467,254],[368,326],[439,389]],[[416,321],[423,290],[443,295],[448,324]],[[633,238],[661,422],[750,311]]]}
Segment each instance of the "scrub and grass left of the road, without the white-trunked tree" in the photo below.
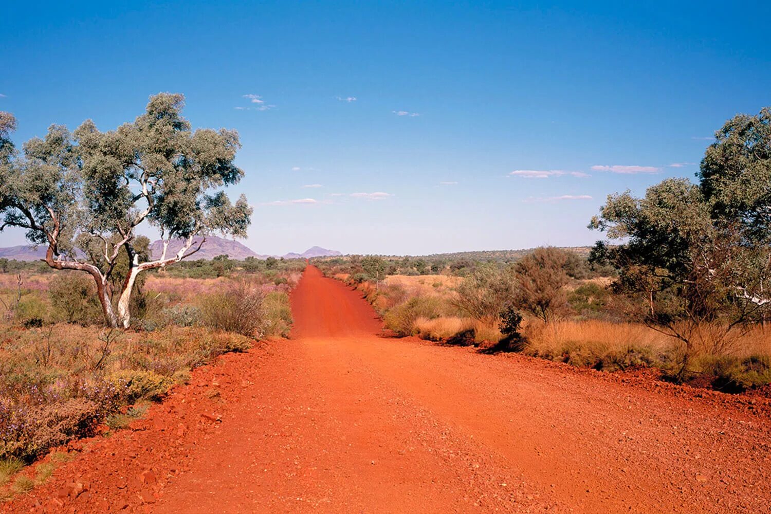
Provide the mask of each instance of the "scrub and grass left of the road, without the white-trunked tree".
{"label": "scrub and grass left of the road, without the white-trunked tree", "polygon": [[221,256],[150,271],[126,331],[105,326],[82,274],[0,262],[0,495],[18,492],[2,478],[17,465],[123,428],[217,355],[286,337],[304,267]]}

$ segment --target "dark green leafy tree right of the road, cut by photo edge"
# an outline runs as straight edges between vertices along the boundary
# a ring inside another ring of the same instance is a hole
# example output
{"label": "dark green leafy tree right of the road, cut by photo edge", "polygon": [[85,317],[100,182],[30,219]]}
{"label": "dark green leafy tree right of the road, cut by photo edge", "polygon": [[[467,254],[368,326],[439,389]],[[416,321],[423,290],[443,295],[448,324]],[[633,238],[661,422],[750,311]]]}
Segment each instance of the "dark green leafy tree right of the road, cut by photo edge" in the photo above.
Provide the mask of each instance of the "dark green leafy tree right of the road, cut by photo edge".
{"label": "dark green leafy tree right of the road, cut by photo edge", "polygon": [[621,243],[596,253],[620,270],[632,312],[685,343],[681,378],[695,338],[720,347],[771,307],[771,111],[729,119],[698,176],[610,195],[589,226]]}

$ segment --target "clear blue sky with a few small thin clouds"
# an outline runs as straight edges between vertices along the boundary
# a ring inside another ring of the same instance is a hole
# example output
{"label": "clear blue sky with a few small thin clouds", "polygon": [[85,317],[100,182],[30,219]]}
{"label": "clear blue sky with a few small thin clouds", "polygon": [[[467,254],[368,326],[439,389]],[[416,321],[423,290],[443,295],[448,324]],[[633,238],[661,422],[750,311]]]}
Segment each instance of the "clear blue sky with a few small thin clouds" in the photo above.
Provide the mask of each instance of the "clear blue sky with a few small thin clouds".
{"label": "clear blue sky with a few small thin clouds", "polygon": [[608,193],[692,177],[715,129],[771,105],[768,2],[2,10],[0,110],[19,143],[51,123],[113,129],[183,92],[194,126],[241,134],[232,194],[254,205],[258,253],[591,244]]}

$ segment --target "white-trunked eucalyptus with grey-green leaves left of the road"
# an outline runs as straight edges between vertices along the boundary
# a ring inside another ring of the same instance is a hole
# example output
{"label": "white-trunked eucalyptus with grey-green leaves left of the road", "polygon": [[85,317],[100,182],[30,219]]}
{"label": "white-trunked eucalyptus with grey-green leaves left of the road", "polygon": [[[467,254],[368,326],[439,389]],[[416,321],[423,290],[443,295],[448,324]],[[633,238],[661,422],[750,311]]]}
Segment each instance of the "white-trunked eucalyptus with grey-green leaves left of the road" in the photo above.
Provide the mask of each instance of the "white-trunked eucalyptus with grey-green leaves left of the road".
{"label": "white-trunked eucalyptus with grey-green leaves left of the road", "polygon": [[[244,176],[234,163],[238,134],[192,130],[183,105],[182,95],[160,93],[132,123],[101,132],[89,119],[72,133],[54,125],[21,153],[10,139],[15,119],[0,113],[0,230],[25,228],[32,244],[47,246],[50,267],[90,274],[110,326],[129,326],[144,270],[190,257],[210,233],[244,237],[250,223],[244,196],[233,203],[222,190]],[[160,256],[142,251],[140,223],[160,232]],[[182,247],[168,254],[177,238]],[[128,269],[118,291],[111,277],[122,255]]]}

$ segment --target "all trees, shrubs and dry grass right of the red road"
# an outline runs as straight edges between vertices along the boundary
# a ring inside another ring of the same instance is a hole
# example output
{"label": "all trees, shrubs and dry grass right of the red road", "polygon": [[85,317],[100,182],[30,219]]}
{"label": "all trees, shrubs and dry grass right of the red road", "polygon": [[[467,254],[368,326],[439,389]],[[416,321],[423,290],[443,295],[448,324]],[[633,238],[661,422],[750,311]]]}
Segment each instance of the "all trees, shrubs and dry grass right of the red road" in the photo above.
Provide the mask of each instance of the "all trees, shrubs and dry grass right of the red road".
{"label": "all trees, shrubs and dry grass right of the red road", "polygon": [[591,249],[314,263],[397,336],[769,394],[771,109],[729,119],[697,178],[611,194]]}

